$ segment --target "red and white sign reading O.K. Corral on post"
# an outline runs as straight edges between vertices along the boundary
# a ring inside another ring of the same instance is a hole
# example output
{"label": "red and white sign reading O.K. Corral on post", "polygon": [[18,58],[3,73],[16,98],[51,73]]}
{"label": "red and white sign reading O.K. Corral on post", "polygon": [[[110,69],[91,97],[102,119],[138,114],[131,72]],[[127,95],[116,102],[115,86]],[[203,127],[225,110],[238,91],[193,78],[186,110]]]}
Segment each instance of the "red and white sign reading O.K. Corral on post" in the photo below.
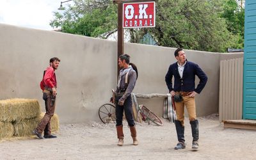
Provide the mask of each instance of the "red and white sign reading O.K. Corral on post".
{"label": "red and white sign reading O.K. Corral on post", "polygon": [[154,28],[155,2],[124,3],[123,28]]}

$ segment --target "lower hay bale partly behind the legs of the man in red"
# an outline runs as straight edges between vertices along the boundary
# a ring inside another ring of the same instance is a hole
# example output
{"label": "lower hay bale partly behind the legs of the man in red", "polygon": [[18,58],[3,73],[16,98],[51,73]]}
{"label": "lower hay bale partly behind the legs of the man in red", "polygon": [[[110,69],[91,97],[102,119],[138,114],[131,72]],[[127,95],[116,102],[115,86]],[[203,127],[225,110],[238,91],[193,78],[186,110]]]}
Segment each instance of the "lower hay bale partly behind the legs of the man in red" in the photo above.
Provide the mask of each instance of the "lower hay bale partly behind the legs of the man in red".
{"label": "lower hay bale partly behind the legs of the man in red", "polygon": [[[45,113],[41,113],[36,118],[14,122],[14,136],[31,136],[33,129],[36,128],[40,120],[44,117],[44,114]],[[54,114],[51,118],[51,128],[52,132],[56,132],[59,130],[59,119],[58,115],[56,114]]]}

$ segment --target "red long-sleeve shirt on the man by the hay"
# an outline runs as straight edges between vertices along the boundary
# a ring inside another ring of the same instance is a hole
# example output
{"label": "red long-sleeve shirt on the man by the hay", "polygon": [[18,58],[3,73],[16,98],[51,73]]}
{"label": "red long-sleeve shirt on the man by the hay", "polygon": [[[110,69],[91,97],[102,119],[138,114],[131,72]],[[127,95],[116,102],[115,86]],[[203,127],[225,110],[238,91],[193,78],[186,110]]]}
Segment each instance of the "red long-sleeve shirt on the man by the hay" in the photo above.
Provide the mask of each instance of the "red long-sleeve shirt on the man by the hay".
{"label": "red long-sleeve shirt on the man by the hay", "polygon": [[45,87],[48,87],[48,88],[57,87],[56,76],[54,73],[54,69],[52,67],[46,68],[44,77],[40,83],[40,88],[42,90],[44,90]]}

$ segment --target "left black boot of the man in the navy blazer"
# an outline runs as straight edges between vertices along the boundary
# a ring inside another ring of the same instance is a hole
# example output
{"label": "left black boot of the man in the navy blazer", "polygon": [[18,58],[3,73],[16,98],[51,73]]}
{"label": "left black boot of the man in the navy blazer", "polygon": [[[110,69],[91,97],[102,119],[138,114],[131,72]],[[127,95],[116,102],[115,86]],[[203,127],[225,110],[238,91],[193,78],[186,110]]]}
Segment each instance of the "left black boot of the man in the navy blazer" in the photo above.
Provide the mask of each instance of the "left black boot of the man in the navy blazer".
{"label": "left black boot of the man in the navy blazer", "polygon": [[184,138],[184,126],[182,126],[179,120],[175,120],[175,127],[177,132],[177,137],[179,143],[175,147],[175,150],[184,149],[186,148],[185,138]]}

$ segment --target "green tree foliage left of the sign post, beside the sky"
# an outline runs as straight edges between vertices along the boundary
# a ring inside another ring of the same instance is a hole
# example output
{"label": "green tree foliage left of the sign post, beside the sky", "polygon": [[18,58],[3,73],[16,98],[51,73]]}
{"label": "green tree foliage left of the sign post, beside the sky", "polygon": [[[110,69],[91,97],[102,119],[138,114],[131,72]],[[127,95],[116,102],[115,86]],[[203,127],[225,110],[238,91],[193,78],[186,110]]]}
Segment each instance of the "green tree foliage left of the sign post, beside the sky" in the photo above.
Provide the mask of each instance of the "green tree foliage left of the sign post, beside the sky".
{"label": "green tree foliage left of the sign post, beside the sky", "polygon": [[[75,6],[69,6],[63,15],[54,13],[52,28],[60,28],[65,33],[84,36],[100,36],[116,29],[117,8],[112,1],[97,3],[89,0],[74,1]],[[103,5],[101,5],[103,4]]]}

